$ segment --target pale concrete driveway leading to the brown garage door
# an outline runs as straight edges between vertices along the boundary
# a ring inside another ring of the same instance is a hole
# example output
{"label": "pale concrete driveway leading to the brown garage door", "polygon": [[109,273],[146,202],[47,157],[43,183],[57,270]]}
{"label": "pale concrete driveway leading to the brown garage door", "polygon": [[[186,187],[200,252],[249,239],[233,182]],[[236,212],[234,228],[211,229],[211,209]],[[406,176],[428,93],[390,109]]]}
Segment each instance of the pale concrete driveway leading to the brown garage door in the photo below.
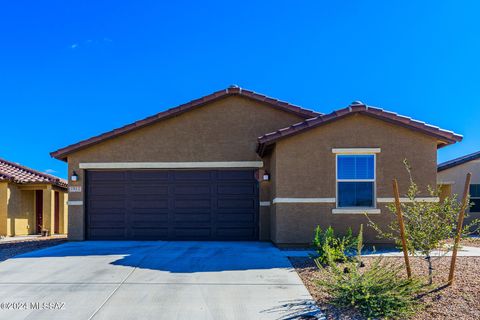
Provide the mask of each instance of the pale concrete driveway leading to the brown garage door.
{"label": "pale concrete driveway leading to the brown garage door", "polygon": [[285,255],[261,242],[71,242],[0,263],[0,319],[310,319]]}

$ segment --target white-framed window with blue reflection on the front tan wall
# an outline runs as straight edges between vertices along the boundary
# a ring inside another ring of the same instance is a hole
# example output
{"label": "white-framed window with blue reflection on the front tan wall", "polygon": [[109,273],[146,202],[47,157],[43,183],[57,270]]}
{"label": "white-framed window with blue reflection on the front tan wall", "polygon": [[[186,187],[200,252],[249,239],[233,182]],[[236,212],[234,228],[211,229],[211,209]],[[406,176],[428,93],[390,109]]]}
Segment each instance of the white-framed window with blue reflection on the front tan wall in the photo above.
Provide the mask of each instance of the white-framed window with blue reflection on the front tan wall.
{"label": "white-framed window with blue reflection on the front tan wall", "polygon": [[337,207],[375,207],[374,154],[337,154]]}

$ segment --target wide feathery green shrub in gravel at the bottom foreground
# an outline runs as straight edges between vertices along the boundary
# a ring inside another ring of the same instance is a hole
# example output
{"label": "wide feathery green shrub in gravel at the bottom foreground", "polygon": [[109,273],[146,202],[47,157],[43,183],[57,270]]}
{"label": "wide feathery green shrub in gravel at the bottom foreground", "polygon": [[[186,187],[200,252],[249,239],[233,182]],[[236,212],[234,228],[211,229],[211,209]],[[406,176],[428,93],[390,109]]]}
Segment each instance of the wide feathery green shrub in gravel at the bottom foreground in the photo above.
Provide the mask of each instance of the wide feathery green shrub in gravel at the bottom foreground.
{"label": "wide feathery green shrub in gravel at the bottom foreground", "polygon": [[319,281],[330,294],[332,303],[353,307],[368,319],[406,319],[418,309],[422,280],[407,279],[401,265],[376,259],[366,268],[350,262],[339,268],[332,264],[323,270],[328,274]]}

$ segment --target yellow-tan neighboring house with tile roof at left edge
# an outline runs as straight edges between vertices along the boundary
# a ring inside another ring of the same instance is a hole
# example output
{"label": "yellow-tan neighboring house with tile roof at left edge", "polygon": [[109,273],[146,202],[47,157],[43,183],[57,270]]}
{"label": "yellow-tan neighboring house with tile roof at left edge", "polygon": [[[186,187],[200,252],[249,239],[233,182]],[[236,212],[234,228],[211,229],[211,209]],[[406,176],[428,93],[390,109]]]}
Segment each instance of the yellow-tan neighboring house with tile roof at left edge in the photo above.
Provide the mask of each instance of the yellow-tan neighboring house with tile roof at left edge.
{"label": "yellow-tan neighboring house with tile roof at left edge", "polygon": [[0,159],[0,236],[66,234],[67,181]]}

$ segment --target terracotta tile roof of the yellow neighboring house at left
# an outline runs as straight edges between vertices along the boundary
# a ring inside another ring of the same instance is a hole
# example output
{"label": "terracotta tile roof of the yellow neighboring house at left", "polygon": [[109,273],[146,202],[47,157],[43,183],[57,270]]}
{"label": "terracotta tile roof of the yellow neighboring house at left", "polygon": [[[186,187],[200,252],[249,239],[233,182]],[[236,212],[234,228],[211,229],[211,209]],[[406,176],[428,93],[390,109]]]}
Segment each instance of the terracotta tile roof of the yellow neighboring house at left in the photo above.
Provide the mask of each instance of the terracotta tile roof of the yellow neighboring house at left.
{"label": "terracotta tile roof of the yellow neighboring house at left", "polygon": [[61,188],[67,188],[67,181],[64,179],[33,170],[1,158],[0,181],[12,181],[19,184],[53,184]]}

